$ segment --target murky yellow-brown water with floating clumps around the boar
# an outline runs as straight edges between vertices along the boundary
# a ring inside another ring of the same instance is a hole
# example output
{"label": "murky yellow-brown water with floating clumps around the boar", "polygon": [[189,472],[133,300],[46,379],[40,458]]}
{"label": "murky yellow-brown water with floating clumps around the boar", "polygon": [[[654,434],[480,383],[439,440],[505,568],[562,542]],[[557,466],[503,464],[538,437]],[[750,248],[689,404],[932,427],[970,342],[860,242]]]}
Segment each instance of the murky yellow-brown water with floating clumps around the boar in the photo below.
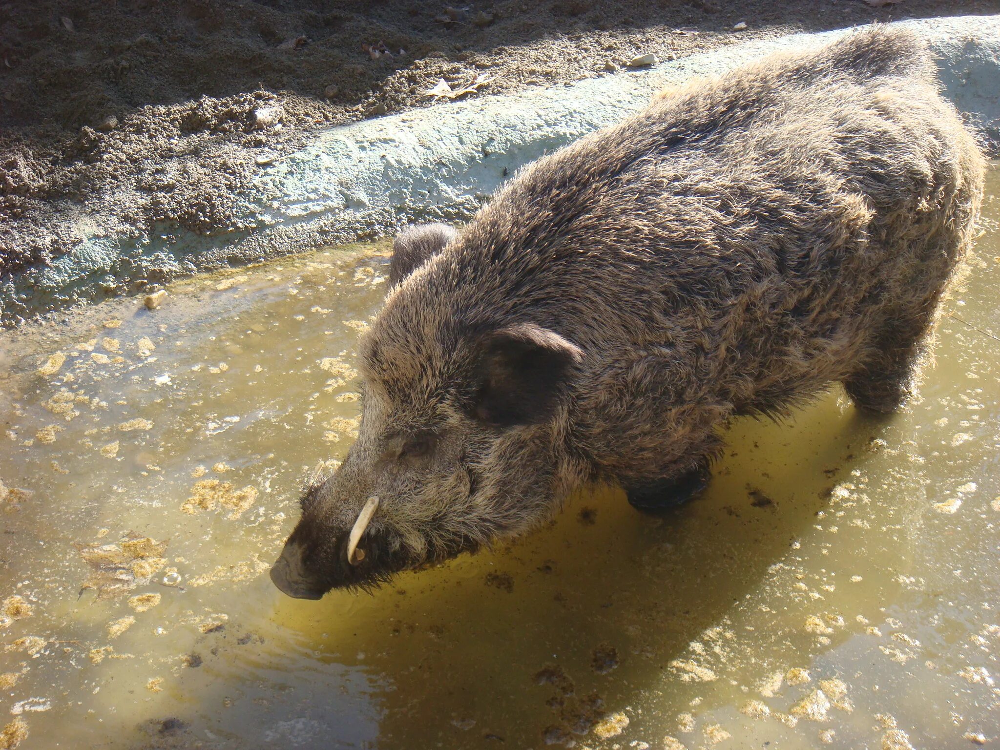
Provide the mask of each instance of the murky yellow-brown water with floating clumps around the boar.
{"label": "murky yellow-brown water with floating clumps around the boar", "polygon": [[902,413],[738,421],[670,518],[581,493],[374,596],[266,570],[351,442],[384,246],[0,334],[0,747],[996,742],[998,219]]}

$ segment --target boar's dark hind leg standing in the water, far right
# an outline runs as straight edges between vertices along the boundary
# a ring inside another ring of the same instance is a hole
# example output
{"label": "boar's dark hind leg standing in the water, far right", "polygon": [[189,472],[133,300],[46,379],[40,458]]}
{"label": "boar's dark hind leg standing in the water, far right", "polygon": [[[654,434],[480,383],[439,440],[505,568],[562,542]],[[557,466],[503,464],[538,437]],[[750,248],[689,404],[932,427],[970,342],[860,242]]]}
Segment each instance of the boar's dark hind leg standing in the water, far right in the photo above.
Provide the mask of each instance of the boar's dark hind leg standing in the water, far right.
{"label": "boar's dark hind leg standing in the water, far right", "polygon": [[928,340],[937,296],[906,316],[894,317],[872,341],[864,365],[844,381],[844,389],[862,409],[889,414],[913,392],[913,375]]}

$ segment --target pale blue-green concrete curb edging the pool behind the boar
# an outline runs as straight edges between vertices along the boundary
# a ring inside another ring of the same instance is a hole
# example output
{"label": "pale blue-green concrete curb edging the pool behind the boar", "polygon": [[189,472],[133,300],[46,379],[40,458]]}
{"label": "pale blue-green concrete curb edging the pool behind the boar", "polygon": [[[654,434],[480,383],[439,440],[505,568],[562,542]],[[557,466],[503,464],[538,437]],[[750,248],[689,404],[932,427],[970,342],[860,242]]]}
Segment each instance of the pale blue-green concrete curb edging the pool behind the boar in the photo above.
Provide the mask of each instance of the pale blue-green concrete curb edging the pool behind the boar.
{"label": "pale blue-green concrete curb edging the pool behind the boar", "polygon": [[[946,95],[1000,144],[1000,15],[902,21],[938,56]],[[205,237],[171,227],[106,236],[0,284],[0,323],[99,299],[122,282],[168,280],[329,244],[412,221],[467,220],[519,167],[642,108],[665,85],[724,72],[846,30],[755,41],[553,89],[441,104],[332,128],[261,165],[240,212],[253,229]]]}

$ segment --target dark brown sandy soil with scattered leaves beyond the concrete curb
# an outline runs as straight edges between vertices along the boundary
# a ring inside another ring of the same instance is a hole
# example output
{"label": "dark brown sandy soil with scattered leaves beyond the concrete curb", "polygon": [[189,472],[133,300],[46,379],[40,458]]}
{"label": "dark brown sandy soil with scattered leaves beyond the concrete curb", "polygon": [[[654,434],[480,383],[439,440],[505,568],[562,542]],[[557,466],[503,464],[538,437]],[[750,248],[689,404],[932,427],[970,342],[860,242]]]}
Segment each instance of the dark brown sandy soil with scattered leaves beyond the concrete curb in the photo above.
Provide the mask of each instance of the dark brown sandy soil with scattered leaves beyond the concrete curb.
{"label": "dark brown sandy soil with scattered leaves beyond the concrete curb", "polygon": [[234,200],[262,153],[294,150],[333,124],[447,107],[425,96],[440,78],[487,73],[472,96],[489,96],[613,75],[647,52],[671,59],[754,37],[998,10],[998,0],[7,2],[0,277],[64,253],[91,213],[113,217],[108,232],[238,229]]}

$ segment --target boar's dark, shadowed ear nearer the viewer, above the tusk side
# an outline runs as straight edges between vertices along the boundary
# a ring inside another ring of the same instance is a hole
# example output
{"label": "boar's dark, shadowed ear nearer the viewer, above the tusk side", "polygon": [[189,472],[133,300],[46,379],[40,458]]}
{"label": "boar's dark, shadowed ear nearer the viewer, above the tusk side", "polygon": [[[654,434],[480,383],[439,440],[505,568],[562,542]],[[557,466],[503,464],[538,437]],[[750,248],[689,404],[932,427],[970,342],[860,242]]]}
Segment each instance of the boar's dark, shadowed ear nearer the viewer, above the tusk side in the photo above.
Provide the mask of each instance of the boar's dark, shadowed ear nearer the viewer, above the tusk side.
{"label": "boar's dark, shadowed ear nearer the viewer, above the tusk side", "polygon": [[558,333],[531,323],[493,331],[480,346],[473,414],[496,427],[551,417],[570,370],[583,359]]}

